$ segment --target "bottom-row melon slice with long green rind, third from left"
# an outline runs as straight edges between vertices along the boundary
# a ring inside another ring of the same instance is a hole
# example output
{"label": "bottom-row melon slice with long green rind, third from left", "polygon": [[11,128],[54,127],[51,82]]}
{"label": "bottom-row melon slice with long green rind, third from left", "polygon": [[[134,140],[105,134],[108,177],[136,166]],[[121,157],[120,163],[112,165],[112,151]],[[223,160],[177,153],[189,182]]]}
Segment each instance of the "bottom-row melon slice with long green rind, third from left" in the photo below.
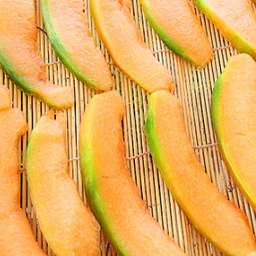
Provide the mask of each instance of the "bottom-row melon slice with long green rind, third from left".
{"label": "bottom-row melon slice with long green rind, third from left", "polygon": [[186,255],[151,217],[124,156],[124,102],[116,91],[94,96],[80,125],[79,152],[87,199],[120,255]]}

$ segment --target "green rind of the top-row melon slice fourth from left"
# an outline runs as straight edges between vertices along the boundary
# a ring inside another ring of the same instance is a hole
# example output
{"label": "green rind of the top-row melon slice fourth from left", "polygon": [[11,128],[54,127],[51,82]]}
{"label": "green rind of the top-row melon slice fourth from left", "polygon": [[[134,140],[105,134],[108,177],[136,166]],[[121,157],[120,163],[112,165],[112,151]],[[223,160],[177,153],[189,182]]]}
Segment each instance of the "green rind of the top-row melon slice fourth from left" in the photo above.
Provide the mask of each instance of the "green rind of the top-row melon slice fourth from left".
{"label": "green rind of the top-row melon slice fourth from left", "polygon": [[157,20],[154,18],[152,13],[149,10],[147,0],[140,0],[143,11],[151,25],[152,28],[156,31],[158,36],[163,40],[163,42],[176,54],[180,55],[182,58],[186,60],[190,60],[194,62],[197,66],[202,66],[202,63],[197,62],[193,59],[192,56],[189,55],[189,52],[186,51],[186,48],[183,47],[180,43],[178,43],[174,38],[172,38],[168,33],[164,30],[163,27],[158,25]]}

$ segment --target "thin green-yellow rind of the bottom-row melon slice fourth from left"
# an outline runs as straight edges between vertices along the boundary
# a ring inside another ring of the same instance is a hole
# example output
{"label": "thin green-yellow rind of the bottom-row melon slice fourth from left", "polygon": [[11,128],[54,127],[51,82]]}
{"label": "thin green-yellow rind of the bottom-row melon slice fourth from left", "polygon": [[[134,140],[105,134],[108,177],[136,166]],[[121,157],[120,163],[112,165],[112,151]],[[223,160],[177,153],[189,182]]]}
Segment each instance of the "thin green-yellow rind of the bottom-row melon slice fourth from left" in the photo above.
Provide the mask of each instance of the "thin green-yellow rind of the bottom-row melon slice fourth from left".
{"label": "thin green-yellow rind of the bottom-row melon slice fourth from left", "polygon": [[[146,123],[144,125],[144,131],[146,133],[148,147],[150,149],[150,152],[153,156],[153,159],[156,163],[156,166],[158,170],[160,171],[167,188],[170,190],[172,196],[176,199],[177,196],[175,194],[175,189],[172,189],[172,185],[168,182],[172,179],[171,173],[170,173],[170,166],[165,162],[164,160],[164,152],[161,148],[161,141],[157,135],[156,131],[156,122],[155,122],[155,114],[154,114],[154,97],[157,92],[152,93],[149,96],[149,107],[148,107],[148,115],[146,118]],[[176,199],[177,200],[177,199]],[[182,204],[180,204],[179,201],[177,201],[180,207],[184,210],[184,207]],[[185,212],[186,213],[186,212]],[[187,214],[187,213],[186,213]],[[188,215],[188,214],[187,214]],[[189,216],[188,216],[189,217]],[[205,236],[204,232],[198,229],[198,227],[193,223],[193,225],[196,227],[196,229],[199,231],[201,235],[203,235],[210,243],[212,243],[217,249],[224,252],[226,255],[230,255],[228,252],[225,252],[223,248],[220,248],[218,244],[216,244],[212,239],[208,236]]]}

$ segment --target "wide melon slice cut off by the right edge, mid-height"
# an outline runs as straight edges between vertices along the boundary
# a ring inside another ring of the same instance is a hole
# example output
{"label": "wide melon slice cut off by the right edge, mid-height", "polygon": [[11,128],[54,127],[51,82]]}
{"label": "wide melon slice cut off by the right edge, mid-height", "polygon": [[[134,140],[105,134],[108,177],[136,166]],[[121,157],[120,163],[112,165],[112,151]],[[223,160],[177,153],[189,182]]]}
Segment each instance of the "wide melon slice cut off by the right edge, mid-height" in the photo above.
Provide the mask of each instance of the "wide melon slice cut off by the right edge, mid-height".
{"label": "wide melon slice cut off by the right edge, mid-height", "polygon": [[215,83],[212,122],[228,170],[256,210],[256,63],[249,55],[231,57]]}

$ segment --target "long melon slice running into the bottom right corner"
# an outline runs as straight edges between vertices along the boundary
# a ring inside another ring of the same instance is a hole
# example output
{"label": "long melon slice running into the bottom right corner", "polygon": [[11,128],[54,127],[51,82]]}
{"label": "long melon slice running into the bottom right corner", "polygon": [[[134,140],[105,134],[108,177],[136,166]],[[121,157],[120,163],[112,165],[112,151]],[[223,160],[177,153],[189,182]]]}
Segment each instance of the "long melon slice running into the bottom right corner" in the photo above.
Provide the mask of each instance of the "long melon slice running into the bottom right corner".
{"label": "long melon slice running into the bottom right corner", "polygon": [[244,212],[229,202],[204,172],[174,95],[159,91],[150,96],[145,132],[167,187],[199,232],[226,255],[256,255]]}

